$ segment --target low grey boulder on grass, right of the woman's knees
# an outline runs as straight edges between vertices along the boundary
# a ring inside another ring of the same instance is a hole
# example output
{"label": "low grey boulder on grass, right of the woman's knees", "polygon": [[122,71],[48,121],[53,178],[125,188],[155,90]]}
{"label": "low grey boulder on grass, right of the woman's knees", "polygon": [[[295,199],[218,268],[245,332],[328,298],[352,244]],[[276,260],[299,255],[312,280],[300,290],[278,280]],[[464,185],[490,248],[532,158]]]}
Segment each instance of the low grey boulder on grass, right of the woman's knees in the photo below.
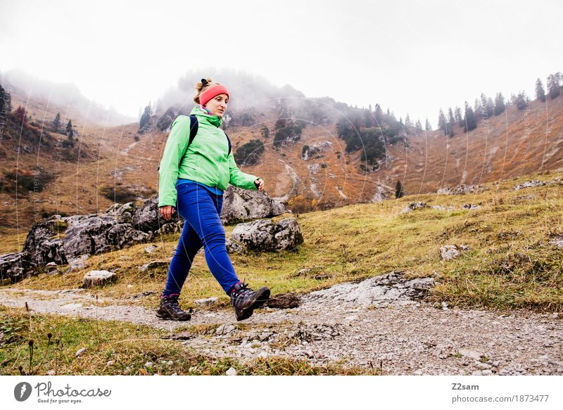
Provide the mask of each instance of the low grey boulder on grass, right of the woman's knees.
{"label": "low grey boulder on grass, right of the woman's knees", "polygon": [[277,224],[270,219],[238,224],[231,238],[247,249],[265,252],[295,250],[297,245],[303,243],[303,235],[295,218],[281,219]]}

